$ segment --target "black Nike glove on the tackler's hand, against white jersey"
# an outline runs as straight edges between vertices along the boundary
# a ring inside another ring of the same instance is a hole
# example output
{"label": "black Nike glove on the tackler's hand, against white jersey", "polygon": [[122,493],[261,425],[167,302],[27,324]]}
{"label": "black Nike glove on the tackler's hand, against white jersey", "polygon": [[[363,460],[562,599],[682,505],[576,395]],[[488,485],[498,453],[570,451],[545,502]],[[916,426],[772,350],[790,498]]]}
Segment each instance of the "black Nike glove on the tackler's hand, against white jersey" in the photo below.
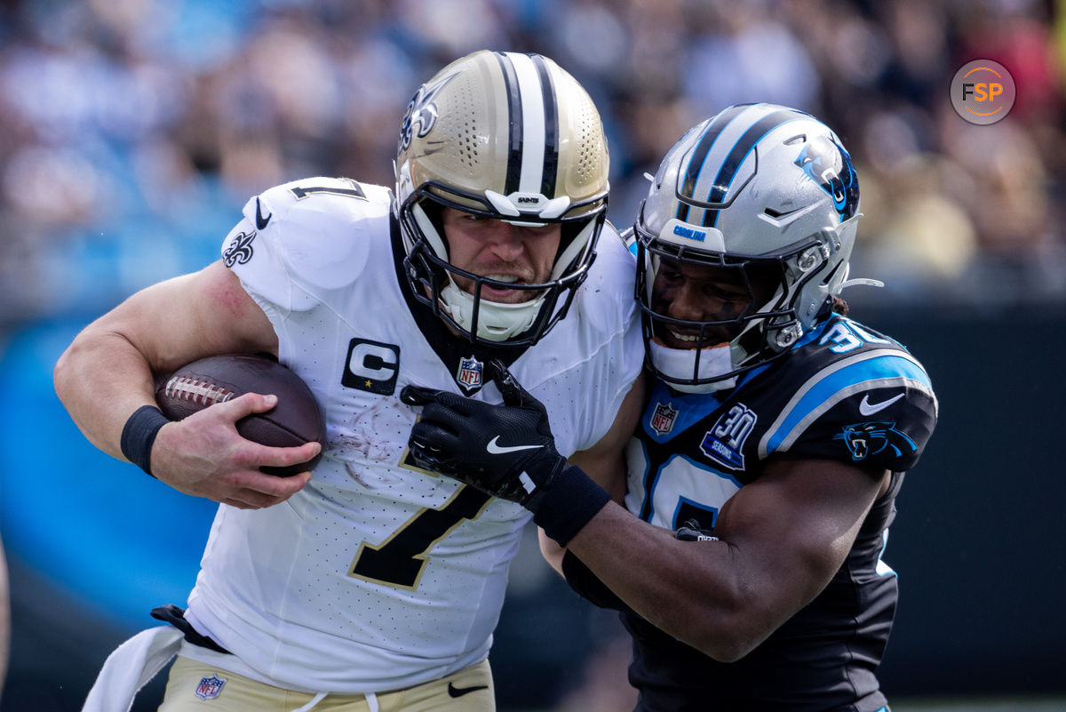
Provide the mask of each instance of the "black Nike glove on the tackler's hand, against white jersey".
{"label": "black Nike glove on the tackler's hand, against white jersey", "polygon": [[410,431],[411,458],[421,468],[518,502],[536,515],[566,458],[555,450],[544,404],[501,361],[489,361],[485,369],[503,405],[419,386],[400,391],[407,405],[424,406]]}

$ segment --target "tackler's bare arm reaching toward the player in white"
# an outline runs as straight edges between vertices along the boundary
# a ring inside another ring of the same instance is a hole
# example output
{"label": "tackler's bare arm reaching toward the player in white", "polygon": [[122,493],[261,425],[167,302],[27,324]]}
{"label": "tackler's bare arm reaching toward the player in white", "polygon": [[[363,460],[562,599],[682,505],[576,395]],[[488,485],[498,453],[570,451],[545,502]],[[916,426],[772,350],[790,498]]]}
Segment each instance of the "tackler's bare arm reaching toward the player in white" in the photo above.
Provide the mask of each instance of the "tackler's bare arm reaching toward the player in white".
{"label": "tackler's bare arm reaching toward the player in white", "polygon": [[656,627],[730,662],[825,587],[884,482],[840,462],[776,458],[723,507],[718,540],[678,540],[610,504],[568,548]]}

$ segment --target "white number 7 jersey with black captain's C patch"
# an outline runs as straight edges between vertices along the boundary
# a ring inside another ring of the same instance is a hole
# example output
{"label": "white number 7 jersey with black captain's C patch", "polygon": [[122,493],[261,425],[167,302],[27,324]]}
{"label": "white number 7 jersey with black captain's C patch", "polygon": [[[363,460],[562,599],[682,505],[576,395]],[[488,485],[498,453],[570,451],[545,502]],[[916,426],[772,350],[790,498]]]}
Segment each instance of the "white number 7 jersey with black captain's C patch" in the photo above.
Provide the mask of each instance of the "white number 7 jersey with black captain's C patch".
{"label": "white number 7 jersey with black captain's C patch", "polygon": [[[187,617],[233,654],[183,654],[334,693],[406,687],[488,654],[529,515],[405,463],[420,408],[401,389],[464,393],[481,371],[470,344],[469,360],[447,366],[416,323],[390,212],[385,188],[311,178],[249,200],[226,239],[224,261],[314,392],[328,441],[287,502],[220,505]],[[633,273],[605,227],[568,315],[511,366],[565,455],[607,433],[641,368]],[[472,398],[501,401],[494,384]]]}

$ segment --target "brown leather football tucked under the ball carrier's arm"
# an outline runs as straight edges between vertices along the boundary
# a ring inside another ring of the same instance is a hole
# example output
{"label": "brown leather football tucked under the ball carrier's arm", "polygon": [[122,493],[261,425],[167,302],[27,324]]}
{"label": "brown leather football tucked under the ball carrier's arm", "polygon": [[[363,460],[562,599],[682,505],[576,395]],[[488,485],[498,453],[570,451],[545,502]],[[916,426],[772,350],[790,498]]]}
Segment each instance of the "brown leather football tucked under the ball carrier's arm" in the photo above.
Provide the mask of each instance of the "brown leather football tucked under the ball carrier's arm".
{"label": "brown leather football tucked under the ball carrier's arm", "polygon": [[[325,420],[311,389],[272,356],[225,354],[193,361],[161,379],[156,401],[163,415],[181,420],[244,393],[273,393],[277,395],[277,405],[237,421],[237,432],[243,437],[275,448],[302,446],[311,440],[325,444]],[[320,452],[307,463],[260,469],[288,478],[313,469],[321,458]]]}

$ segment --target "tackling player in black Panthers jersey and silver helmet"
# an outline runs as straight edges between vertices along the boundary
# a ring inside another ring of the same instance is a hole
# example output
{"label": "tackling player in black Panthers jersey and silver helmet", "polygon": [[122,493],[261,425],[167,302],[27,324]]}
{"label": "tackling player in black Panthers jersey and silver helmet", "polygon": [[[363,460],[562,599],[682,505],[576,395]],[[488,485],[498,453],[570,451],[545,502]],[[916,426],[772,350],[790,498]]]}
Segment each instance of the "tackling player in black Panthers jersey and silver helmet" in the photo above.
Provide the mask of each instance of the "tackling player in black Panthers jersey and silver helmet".
{"label": "tackling player in black Panthers jersey and silver helmet", "polygon": [[871,282],[847,277],[858,199],[837,135],[785,107],[730,107],[671,149],[632,236],[645,410],[602,488],[500,366],[510,408],[410,394],[416,459],[536,521],[567,513],[566,548],[543,548],[623,612],[637,710],[887,710],[881,555],[937,402],[906,349],[846,315],[841,290]]}

